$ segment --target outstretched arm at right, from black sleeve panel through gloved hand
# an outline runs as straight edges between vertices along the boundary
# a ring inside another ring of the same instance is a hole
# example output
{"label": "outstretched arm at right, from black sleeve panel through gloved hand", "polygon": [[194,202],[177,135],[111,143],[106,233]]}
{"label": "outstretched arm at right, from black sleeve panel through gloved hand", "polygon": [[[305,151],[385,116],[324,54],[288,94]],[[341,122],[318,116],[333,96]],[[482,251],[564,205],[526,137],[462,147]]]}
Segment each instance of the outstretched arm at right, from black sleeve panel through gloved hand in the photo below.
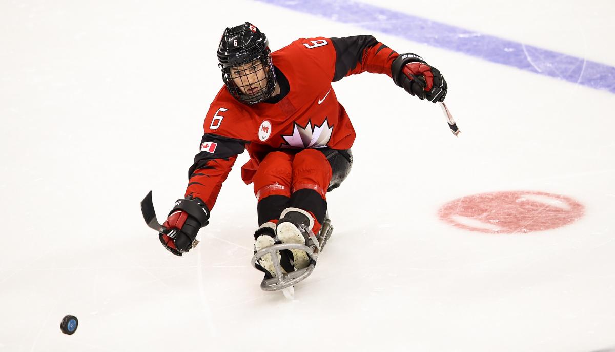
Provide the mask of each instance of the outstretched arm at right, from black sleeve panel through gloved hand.
{"label": "outstretched arm at right, from black sleeve panel through gloved hand", "polygon": [[330,38],[335,48],[335,74],[332,81],[363,72],[383,73],[411,95],[442,102],[448,86],[433,66],[416,54],[397,54],[373,36]]}

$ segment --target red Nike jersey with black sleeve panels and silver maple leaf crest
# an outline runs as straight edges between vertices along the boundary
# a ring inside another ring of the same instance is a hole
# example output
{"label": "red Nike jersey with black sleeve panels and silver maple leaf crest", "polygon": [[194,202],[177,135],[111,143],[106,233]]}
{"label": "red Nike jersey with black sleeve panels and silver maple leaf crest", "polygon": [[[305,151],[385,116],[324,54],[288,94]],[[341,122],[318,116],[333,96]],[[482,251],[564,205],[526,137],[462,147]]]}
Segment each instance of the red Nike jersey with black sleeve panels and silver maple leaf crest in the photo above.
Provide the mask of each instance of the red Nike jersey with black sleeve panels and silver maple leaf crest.
{"label": "red Nike jersey with black sleeve panels and silver maple leaf crest", "polygon": [[276,103],[248,105],[220,89],[204,121],[200,153],[189,170],[186,197],[212,209],[237,155],[248,151],[242,178],[251,183],[270,151],[286,148],[349,149],[354,128],[331,82],[365,71],[391,77],[399,55],[372,36],[298,39],[271,54],[277,81],[288,93]]}

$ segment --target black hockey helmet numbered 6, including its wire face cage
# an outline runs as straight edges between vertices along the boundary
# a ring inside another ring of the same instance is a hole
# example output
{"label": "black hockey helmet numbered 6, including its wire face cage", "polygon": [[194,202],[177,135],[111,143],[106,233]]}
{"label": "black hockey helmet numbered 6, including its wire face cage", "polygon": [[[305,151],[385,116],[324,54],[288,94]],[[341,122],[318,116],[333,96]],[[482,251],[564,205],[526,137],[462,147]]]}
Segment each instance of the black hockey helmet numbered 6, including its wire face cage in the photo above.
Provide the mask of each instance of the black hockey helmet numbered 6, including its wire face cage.
{"label": "black hockey helmet numbered 6, including its wire face cage", "polygon": [[226,88],[241,102],[262,102],[276,89],[269,40],[252,23],[224,30],[218,62]]}

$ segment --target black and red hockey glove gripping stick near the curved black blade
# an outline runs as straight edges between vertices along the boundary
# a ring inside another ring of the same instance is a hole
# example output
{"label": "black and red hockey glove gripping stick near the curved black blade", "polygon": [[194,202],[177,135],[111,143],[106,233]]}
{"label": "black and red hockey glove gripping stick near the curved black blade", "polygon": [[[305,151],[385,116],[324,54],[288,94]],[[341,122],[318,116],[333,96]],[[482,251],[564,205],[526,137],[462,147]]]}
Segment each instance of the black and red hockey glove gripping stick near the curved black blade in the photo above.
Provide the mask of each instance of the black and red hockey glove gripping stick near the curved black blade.
{"label": "black and red hockey glove gripping stick near the curved black blade", "polygon": [[175,207],[169,213],[169,217],[163,226],[173,229],[168,236],[159,233],[158,237],[169,252],[175,255],[182,255],[196,246],[194,239],[200,228],[205,227],[209,222],[209,209],[200,201],[195,199],[178,199]]}

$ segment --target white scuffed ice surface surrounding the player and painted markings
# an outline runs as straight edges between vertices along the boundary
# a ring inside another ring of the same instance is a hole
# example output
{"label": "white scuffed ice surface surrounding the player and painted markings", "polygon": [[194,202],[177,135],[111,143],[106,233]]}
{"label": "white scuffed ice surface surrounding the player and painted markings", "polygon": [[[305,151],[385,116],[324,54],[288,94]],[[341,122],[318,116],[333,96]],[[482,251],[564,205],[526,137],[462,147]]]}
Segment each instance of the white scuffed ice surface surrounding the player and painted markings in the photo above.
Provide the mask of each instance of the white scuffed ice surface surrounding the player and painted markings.
{"label": "white scuffed ice surface surrounding the player and painted markings", "polygon": [[[611,1],[370,2],[615,65]],[[357,130],[354,166],[328,196],[335,230],[294,301],[261,291],[250,266],[247,154],[189,254],[169,254],[140,214],[149,190],[159,218],[183,197],[223,84],[220,34],[245,21],[274,50],[372,34],[423,56],[462,130],[384,75],[333,85]],[[615,348],[613,89],[367,28],[244,0],[3,1],[0,351]],[[454,199],[511,191],[559,194],[583,215],[509,234],[438,217]],[[60,332],[66,314],[74,335]]]}

